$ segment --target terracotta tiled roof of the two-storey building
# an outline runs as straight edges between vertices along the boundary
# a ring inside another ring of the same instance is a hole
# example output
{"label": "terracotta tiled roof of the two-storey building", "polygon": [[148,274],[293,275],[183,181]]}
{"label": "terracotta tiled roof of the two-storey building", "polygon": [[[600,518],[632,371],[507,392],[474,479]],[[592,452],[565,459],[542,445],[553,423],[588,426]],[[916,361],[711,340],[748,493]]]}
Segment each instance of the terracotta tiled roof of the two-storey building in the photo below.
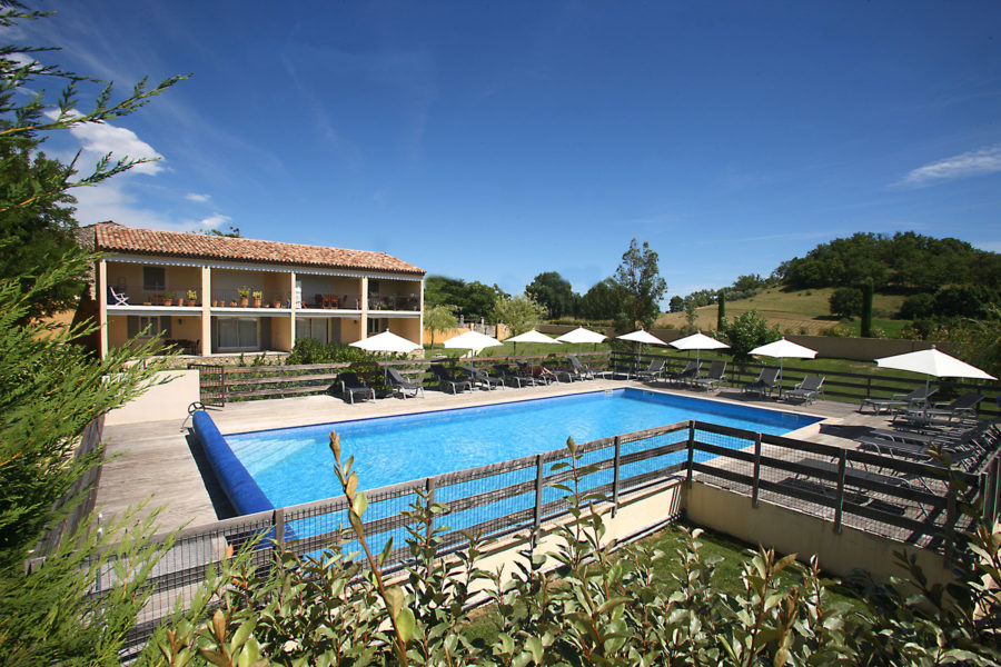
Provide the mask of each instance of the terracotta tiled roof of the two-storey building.
{"label": "terracotta tiled roof of the two-storey building", "polygon": [[424,269],[385,252],[140,229],[125,227],[117,222],[98,222],[93,226],[93,238],[95,250],[103,252],[227,259],[336,269],[365,269],[393,273],[415,273],[418,276],[425,273]]}

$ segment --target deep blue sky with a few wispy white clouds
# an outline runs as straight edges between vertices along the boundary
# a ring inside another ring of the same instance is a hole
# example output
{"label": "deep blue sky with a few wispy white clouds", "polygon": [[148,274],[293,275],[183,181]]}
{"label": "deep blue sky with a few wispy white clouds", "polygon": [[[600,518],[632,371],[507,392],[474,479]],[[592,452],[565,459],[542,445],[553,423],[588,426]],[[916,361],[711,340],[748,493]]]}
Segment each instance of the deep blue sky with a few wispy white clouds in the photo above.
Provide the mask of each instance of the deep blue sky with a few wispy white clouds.
{"label": "deep blue sky with a few wispy white clouds", "polygon": [[858,231],[1001,251],[994,1],[38,7],[2,43],[122,92],[192,74],[48,140],[161,158],[78,189],[82,225],[234,226],[511,293],[583,293],[633,238],[668,297]]}

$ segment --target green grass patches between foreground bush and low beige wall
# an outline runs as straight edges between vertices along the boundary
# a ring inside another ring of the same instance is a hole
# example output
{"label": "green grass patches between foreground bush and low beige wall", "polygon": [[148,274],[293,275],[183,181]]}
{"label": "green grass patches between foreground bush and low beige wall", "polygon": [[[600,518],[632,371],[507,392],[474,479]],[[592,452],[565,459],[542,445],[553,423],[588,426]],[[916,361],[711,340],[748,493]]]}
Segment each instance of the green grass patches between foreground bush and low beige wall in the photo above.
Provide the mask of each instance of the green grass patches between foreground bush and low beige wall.
{"label": "green grass patches between foreground bush and low beige wall", "polygon": [[[744,590],[744,585],[741,581],[743,564],[751,557],[749,550],[754,549],[754,547],[730,536],[710,530],[703,532],[698,541],[703,545],[701,549],[703,561],[710,558],[721,559],[716,564],[713,576],[714,588],[726,595],[742,594]],[[654,549],[661,549],[670,555],[654,566],[661,576],[667,580],[671,580],[672,575],[684,577],[684,560],[678,550],[684,549],[685,535],[680,526],[668,526],[664,530],[645,538],[643,544]],[[795,585],[795,577],[792,573],[783,573],[782,580],[783,589]],[[844,585],[832,587],[830,594],[831,603],[844,601],[859,608],[864,606],[858,594]],[[492,606],[487,606],[475,616],[475,620],[468,628],[468,636],[474,640],[482,639],[493,643],[497,638],[498,629],[497,613]]]}

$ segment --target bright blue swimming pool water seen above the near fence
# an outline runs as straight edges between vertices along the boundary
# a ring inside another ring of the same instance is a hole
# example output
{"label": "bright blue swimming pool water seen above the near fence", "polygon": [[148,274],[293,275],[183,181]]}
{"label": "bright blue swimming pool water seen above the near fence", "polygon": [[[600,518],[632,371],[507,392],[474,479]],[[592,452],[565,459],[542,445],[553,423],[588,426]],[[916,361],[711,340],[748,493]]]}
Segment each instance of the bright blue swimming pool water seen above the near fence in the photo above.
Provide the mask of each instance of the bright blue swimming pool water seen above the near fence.
{"label": "bright blue swimming pool water seen above the near fence", "polygon": [[559,449],[685,419],[781,435],[817,418],[721,401],[616,389],[399,417],[227,436],[276,507],[340,495],[329,434],[355,457],[359,487],[377,488]]}

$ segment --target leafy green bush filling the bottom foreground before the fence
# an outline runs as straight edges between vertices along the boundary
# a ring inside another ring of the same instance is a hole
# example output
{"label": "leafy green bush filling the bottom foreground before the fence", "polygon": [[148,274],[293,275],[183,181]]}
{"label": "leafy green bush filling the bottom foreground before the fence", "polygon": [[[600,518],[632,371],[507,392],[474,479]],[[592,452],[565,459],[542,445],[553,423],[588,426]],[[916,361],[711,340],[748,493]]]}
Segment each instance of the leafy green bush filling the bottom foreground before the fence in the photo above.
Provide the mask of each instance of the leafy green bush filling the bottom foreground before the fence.
{"label": "leafy green bush filling the bottom foreground before the fence", "polygon": [[[557,567],[543,556],[515,571],[476,565],[480,545],[437,557],[443,511],[418,494],[407,512],[413,560],[402,575],[381,571],[364,540],[367,507],[351,460],[336,472],[350,501],[349,518],[364,548],[361,565],[338,549],[318,558],[285,552],[270,573],[255,570],[250,552],[209,578],[195,608],[161,628],[145,665],[995,665],[999,655],[1001,534],[978,527],[948,590],[929,586],[908,564],[906,580],[872,586],[868,608],[833,603],[816,561],[760,550],[744,564],[743,590],[714,587],[712,559],[698,530],[677,555],[644,545],[615,557],[604,542],[598,498],[582,494],[573,440],[566,468],[569,520],[556,528]],[[975,508],[970,509],[975,512]],[[526,555],[527,556],[527,555]],[[682,576],[657,574],[663,558],[682,558]],[[795,584],[787,585],[792,574]],[[782,575],[780,577],[780,575]],[[984,577],[982,579],[982,577]],[[780,579],[785,579],[781,581]],[[474,591],[479,593],[474,593]],[[478,596],[478,597],[477,597]],[[469,603],[488,600],[499,617],[496,639],[473,639]]]}

